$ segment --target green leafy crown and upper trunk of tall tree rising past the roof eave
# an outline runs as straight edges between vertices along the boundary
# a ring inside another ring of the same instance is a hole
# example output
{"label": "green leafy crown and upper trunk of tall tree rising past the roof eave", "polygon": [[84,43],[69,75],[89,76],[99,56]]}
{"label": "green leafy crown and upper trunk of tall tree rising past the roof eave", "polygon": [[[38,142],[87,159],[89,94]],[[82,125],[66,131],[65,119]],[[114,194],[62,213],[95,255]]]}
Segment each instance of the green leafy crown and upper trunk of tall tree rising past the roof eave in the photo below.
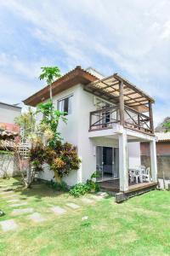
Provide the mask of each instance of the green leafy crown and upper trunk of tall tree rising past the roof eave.
{"label": "green leafy crown and upper trunk of tall tree rising past the roof eave", "polygon": [[52,93],[52,84],[55,79],[59,79],[61,77],[61,73],[59,67],[41,67],[42,73],[39,76],[40,80],[45,80],[49,85],[49,96],[51,102],[53,102],[53,93]]}

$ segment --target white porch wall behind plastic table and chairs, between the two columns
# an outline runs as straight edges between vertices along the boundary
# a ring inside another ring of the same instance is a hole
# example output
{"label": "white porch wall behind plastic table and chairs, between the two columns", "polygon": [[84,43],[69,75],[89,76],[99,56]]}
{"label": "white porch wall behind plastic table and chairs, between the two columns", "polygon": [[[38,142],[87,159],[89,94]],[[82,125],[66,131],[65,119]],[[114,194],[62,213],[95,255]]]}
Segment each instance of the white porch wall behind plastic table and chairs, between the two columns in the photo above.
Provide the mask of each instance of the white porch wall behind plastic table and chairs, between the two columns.
{"label": "white porch wall behind plastic table and chairs, between the two columns", "polygon": [[129,168],[140,166],[140,143],[127,143],[127,155]]}

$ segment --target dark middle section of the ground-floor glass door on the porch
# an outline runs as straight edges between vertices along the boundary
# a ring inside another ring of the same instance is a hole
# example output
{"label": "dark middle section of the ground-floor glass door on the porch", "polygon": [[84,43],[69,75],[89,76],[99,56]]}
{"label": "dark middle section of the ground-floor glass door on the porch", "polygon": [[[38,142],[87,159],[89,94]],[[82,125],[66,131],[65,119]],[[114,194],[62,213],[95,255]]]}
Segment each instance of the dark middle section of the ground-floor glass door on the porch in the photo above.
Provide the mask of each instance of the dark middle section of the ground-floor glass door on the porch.
{"label": "dark middle section of the ground-floor glass door on the porch", "polygon": [[103,148],[103,172],[108,177],[112,176],[113,148]]}

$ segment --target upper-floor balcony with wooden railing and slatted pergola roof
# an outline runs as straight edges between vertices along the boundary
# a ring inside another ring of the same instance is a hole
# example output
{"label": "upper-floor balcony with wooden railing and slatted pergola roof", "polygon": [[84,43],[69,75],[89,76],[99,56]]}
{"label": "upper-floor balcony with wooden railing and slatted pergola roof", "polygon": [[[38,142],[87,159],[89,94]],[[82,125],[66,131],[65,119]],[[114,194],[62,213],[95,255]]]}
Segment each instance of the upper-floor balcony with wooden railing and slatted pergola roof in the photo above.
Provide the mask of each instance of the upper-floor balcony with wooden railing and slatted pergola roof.
{"label": "upper-floor balcony with wooden railing and slatted pergola roof", "polygon": [[109,129],[114,123],[131,130],[154,134],[153,98],[117,73],[84,87],[94,96],[110,102],[111,108],[90,113],[89,131]]}

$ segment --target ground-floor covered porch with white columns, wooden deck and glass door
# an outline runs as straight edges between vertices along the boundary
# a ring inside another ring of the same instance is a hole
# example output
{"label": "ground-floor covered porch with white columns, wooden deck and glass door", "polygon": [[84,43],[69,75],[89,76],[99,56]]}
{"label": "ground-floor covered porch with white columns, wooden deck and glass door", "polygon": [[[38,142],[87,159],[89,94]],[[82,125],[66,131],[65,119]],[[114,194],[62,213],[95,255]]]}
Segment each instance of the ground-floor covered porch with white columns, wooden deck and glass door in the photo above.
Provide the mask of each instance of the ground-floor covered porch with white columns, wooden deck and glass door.
{"label": "ground-floor covered porch with white columns, wooden deck and glass door", "polygon": [[[89,137],[96,148],[100,189],[128,194],[156,187],[156,137],[121,128],[121,125],[111,130],[90,131]],[[150,180],[138,178],[137,181],[130,177],[130,170],[138,170],[141,166],[140,142],[146,141],[150,143]]]}

